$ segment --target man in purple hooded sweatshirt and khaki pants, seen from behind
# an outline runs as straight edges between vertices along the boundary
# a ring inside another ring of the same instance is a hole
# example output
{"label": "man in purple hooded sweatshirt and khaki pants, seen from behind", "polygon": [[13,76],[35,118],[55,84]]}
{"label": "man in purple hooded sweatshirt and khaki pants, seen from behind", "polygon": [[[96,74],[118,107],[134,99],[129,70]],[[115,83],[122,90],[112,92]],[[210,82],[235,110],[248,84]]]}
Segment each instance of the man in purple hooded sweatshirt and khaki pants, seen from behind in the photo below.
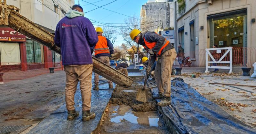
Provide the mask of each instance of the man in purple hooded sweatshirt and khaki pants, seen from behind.
{"label": "man in purple hooded sweatshirt and khaki pants, seen from behind", "polygon": [[66,72],[65,100],[67,120],[78,116],[74,107],[76,86],[80,81],[83,101],[83,121],[95,118],[91,109],[92,54],[90,47],[98,42],[92,22],[84,17],[83,8],[74,5],[57,24],[54,42],[61,48],[62,64]]}

